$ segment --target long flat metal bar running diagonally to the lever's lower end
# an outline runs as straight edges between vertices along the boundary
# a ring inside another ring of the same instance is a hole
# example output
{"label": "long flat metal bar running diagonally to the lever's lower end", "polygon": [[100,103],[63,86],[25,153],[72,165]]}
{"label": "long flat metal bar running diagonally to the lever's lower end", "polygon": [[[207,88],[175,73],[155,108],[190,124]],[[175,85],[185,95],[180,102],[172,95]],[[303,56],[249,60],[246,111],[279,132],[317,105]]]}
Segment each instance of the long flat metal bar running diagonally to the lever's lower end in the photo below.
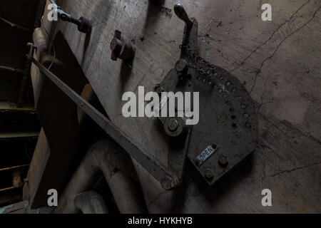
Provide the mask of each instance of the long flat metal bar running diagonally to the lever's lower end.
{"label": "long flat metal bar running diagonally to the lever's lower end", "polygon": [[74,103],[76,103],[101,128],[103,128],[103,130],[105,130],[106,133],[113,138],[113,140],[123,147],[123,149],[128,152],[128,155],[133,157],[133,159],[135,159],[144,169],[150,172],[151,175],[156,178],[156,180],[161,182],[162,178],[165,176],[173,177],[173,175],[170,174],[170,172],[166,170],[166,168],[160,162],[155,159],[152,160],[151,157],[148,157],[148,155],[143,152],[143,149],[137,145],[136,142],[133,142],[133,140],[131,140],[126,133],[123,133],[120,128],[111,123],[106,116],[98,112],[96,108],[93,108],[90,103],[73,91],[69,86],[66,85],[66,83],[63,83],[63,81],[55,76],[54,73],[51,73],[51,71],[36,61],[34,57],[29,56],[29,58],[39,68],[41,73],[44,73],[44,75],[47,76],[53,83],[55,83],[56,86],[63,91],[63,93],[66,93],[66,95],[68,95],[68,97],[71,98]]}

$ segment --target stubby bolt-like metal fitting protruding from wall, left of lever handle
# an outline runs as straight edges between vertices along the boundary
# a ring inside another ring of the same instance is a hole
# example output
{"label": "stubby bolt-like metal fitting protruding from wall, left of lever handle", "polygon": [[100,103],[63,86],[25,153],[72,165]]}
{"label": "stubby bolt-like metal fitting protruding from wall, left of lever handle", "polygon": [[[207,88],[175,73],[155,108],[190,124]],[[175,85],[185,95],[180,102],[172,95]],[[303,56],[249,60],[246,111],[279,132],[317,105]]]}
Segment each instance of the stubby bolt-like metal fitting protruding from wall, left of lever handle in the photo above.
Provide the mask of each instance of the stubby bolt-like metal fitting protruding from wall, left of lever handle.
{"label": "stubby bolt-like metal fitting protruding from wall, left of lever handle", "polygon": [[121,37],[121,31],[116,30],[111,41],[111,59],[117,61],[118,58],[124,61],[133,58],[133,46]]}

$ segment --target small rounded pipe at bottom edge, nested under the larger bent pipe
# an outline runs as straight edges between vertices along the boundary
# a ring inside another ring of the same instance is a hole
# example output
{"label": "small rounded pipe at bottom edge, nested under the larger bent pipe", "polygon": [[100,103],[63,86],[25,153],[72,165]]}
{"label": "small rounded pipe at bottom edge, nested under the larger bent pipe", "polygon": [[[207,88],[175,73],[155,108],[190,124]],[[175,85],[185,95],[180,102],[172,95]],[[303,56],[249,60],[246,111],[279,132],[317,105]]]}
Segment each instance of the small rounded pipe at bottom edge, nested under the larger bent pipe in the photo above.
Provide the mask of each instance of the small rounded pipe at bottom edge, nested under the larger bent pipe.
{"label": "small rounded pipe at bottom edge, nested under the larger bent pipe", "polygon": [[108,214],[103,197],[95,191],[78,194],[75,197],[75,207],[83,214]]}

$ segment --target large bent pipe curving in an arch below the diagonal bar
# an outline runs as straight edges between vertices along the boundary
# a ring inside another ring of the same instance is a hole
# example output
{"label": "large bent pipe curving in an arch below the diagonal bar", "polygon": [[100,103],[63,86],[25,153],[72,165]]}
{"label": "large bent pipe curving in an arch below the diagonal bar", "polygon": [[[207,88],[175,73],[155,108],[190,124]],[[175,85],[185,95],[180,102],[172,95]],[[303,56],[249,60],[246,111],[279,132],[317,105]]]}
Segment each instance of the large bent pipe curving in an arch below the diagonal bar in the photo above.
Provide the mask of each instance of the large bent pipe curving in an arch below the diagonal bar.
{"label": "large bent pipe curving in an arch below the diagonal bar", "polygon": [[146,204],[138,188],[138,180],[131,157],[111,140],[96,142],[61,195],[54,213],[74,214],[79,212],[75,197],[91,190],[103,173],[113,198],[121,213],[146,213]]}

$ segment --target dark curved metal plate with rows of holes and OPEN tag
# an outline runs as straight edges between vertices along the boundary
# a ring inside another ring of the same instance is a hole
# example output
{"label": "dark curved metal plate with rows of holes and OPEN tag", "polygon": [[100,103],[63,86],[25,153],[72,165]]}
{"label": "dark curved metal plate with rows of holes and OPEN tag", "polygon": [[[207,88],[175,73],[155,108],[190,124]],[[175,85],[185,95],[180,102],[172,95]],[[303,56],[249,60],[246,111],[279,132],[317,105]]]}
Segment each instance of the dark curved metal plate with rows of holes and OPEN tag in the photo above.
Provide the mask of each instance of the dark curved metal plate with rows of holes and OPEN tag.
{"label": "dark curved metal plate with rows of holes and OPEN tag", "polygon": [[[202,73],[188,68],[189,78],[182,83],[181,76],[172,69],[161,86],[174,93],[200,93],[200,121],[191,131],[188,157],[206,182],[213,185],[255,150],[258,118],[253,100],[238,78],[208,63],[195,65]],[[205,150],[208,147],[213,151]],[[208,170],[213,173],[210,177],[206,175]]]}

